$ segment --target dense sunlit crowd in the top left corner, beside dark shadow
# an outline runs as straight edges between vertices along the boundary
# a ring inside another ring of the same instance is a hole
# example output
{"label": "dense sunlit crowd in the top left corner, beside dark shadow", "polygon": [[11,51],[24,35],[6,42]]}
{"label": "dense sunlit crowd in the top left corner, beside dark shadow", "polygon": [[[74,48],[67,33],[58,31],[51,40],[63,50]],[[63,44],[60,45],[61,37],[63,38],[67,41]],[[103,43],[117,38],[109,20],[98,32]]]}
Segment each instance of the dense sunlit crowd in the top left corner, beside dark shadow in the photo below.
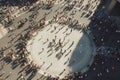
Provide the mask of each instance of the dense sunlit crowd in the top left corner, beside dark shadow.
{"label": "dense sunlit crowd in the top left corner, beside dark shadow", "polygon": [[11,24],[13,24],[14,19],[17,17],[18,14],[27,11],[29,8],[30,8],[29,5],[27,7],[26,6],[12,6],[9,3],[1,6],[0,7],[0,23],[4,25],[5,27],[10,26]]}

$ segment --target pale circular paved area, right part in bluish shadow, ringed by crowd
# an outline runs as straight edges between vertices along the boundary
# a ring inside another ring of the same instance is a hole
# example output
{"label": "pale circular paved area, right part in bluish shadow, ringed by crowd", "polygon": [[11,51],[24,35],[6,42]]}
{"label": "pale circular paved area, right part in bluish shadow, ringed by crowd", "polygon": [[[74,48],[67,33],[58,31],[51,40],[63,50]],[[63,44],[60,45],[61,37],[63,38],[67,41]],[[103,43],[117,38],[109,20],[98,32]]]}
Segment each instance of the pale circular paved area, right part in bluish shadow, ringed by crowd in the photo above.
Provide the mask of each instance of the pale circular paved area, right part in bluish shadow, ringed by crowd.
{"label": "pale circular paved area, right part in bluish shadow, ringed by crowd", "polygon": [[33,35],[27,50],[40,73],[63,78],[86,71],[93,61],[95,46],[84,31],[53,23]]}

